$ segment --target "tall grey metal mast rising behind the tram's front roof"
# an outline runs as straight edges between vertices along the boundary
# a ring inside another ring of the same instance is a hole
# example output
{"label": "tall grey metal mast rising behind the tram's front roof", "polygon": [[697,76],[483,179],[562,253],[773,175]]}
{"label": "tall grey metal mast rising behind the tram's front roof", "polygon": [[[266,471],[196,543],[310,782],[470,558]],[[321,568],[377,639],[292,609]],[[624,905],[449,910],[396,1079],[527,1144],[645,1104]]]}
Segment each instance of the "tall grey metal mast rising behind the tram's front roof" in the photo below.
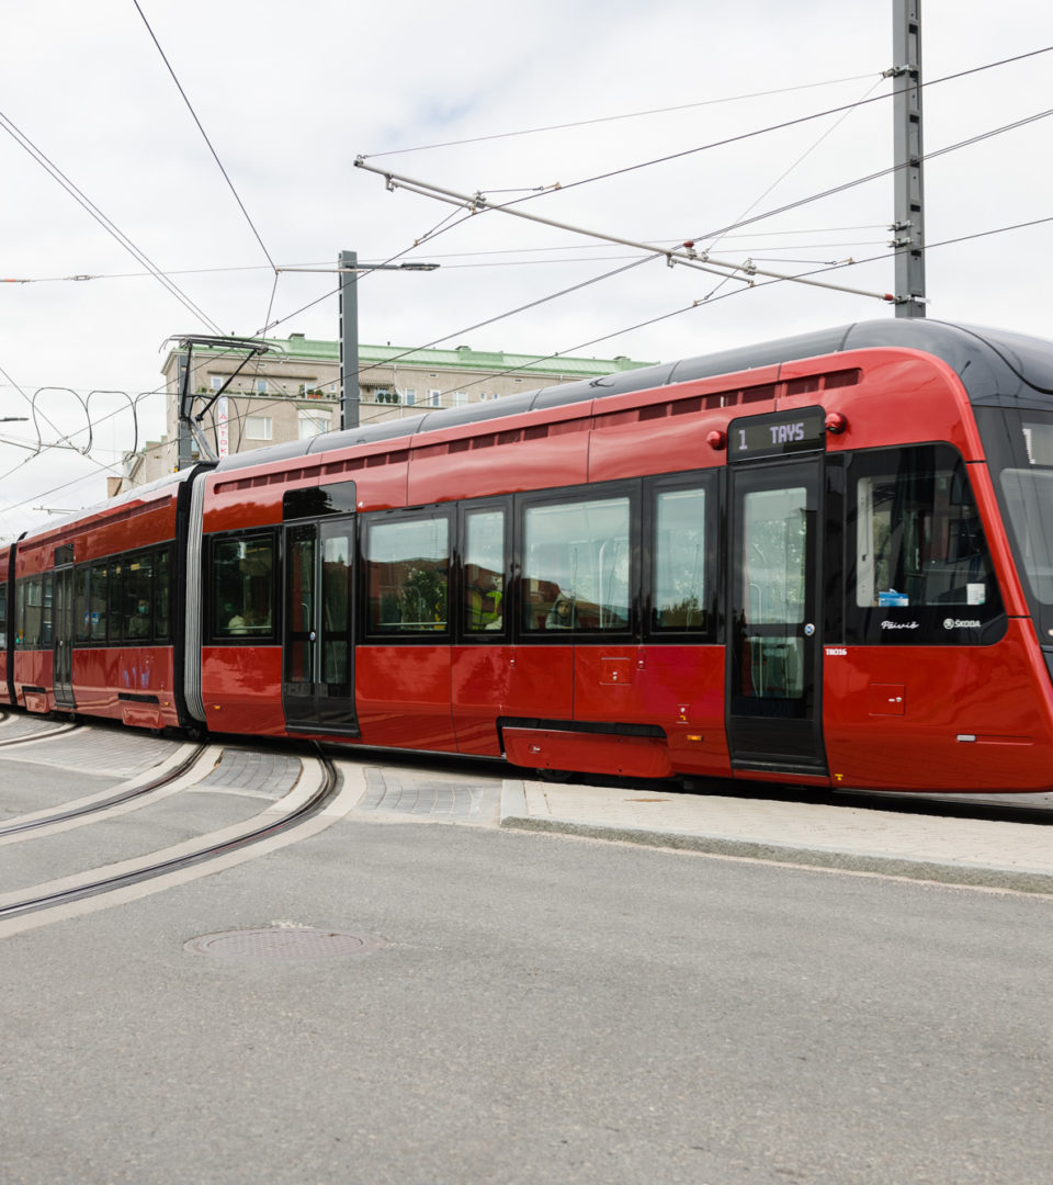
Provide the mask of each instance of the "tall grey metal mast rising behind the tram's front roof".
{"label": "tall grey metal mast rising behind the tram's front roof", "polygon": [[925,198],[922,159],[922,0],[892,0],[895,79],[895,315],[925,315]]}

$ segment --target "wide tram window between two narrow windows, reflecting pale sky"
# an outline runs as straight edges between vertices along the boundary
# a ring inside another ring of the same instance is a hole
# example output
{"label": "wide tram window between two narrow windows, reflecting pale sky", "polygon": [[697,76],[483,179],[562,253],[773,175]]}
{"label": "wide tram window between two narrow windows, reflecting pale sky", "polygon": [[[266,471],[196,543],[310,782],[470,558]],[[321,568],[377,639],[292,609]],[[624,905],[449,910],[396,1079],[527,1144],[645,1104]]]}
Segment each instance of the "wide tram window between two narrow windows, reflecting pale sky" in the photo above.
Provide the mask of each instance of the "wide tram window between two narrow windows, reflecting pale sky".
{"label": "wide tram window between two narrow windows, reflecting pale sky", "polygon": [[629,499],[529,506],[524,629],[629,628]]}

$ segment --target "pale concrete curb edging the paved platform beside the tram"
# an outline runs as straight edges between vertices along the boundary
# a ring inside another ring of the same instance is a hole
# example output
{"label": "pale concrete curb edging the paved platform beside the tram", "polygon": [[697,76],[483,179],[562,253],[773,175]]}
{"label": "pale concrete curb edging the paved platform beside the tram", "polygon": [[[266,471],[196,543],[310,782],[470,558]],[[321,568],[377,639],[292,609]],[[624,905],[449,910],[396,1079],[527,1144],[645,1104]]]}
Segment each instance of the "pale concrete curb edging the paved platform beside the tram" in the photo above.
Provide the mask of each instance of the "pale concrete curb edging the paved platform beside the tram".
{"label": "pale concrete curb edging the paved platform beside the tram", "polygon": [[515,831],[554,832],[585,839],[616,840],[648,847],[667,847],[708,856],[732,856],[802,867],[832,869],[842,872],[874,872],[911,880],[984,889],[1009,889],[1015,892],[1053,896],[1053,873],[1025,869],[997,867],[985,864],[955,864],[942,860],[907,859],[880,852],[830,851],[790,844],[759,843],[728,835],[706,835],[660,828],[618,827],[578,822],[569,819],[539,818],[527,811],[522,782],[506,781],[501,788],[501,826]]}

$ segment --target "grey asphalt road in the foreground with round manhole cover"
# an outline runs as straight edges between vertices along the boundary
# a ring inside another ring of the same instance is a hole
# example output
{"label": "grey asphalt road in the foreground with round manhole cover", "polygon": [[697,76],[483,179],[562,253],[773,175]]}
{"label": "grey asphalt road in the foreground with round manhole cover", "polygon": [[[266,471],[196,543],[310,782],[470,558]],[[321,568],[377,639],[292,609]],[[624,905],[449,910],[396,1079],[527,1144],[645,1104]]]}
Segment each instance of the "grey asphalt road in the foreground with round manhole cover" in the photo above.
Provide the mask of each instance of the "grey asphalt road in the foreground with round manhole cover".
{"label": "grey asphalt road in the foreground with round manhole cover", "polygon": [[352,813],[0,940],[0,1181],[1046,1183],[1051,909]]}

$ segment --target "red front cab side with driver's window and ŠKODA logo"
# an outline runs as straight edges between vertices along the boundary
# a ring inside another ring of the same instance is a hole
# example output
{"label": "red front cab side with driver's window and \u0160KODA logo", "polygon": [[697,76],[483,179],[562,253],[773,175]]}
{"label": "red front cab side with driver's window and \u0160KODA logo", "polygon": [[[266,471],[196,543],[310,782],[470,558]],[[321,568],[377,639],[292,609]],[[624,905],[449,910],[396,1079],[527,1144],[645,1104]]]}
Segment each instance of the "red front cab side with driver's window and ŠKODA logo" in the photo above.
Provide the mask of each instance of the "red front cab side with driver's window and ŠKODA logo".
{"label": "red front cab side with driver's window and \u0160KODA logo", "polygon": [[887,353],[869,373],[880,398],[861,387],[835,404],[848,430],[833,446],[843,619],[823,647],[832,784],[1048,789],[1051,683],[972,409],[943,363]]}

